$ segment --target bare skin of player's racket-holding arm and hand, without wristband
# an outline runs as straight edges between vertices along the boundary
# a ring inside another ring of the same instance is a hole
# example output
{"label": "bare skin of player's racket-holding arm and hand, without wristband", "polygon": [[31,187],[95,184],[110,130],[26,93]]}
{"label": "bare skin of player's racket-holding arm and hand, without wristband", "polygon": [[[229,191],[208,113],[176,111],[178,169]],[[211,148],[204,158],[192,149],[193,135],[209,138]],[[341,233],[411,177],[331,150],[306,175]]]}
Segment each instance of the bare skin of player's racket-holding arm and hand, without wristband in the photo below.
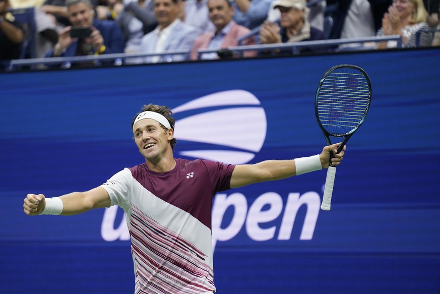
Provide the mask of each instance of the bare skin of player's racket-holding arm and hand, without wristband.
{"label": "bare skin of player's racket-holding arm and hand, without wristband", "polygon": [[[345,146],[340,153],[336,154],[340,144],[341,143],[337,143],[324,147],[319,155],[320,162],[318,162],[318,165],[321,163],[321,166],[318,166],[317,169],[329,167],[330,151],[334,154],[332,164],[336,166],[341,163]],[[318,160],[318,158],[316,158],[316,160]],[[232,172],[230,187],[237,188],[254,183],[276,181],[292,177],[293,175],[298,174],[297,164],[298,161],[295,162],[295,159],[291,159],[265,160],[256,164],[236,165]]]}

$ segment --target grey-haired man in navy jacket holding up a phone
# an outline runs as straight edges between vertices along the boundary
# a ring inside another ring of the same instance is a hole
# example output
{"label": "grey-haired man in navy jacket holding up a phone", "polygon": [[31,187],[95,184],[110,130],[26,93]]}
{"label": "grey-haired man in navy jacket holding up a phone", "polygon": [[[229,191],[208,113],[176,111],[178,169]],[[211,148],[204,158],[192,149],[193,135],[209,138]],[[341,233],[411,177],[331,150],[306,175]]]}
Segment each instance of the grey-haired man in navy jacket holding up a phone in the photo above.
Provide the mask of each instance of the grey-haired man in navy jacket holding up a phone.
{"label": "grey-haired man in navy jacket holding up a phone", "polygon": [[91,34],[84,38],[72,38],[72,26],[59,33],[56,45],[46,57],[84,56],[91,54],[122,53],[124,40],[122,32],[113,21],[94,19],[94,11],[89,0],[67,0],[69,20],[75,27],[89,27]]}

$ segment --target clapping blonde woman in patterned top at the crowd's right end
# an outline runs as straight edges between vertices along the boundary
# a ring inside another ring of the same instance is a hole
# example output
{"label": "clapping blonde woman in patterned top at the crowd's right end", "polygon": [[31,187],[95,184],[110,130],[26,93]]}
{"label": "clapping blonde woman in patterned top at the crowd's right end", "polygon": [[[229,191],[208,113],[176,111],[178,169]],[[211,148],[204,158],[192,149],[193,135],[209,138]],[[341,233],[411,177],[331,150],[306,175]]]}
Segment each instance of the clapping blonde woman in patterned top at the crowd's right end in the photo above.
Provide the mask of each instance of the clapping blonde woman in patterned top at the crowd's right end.
{"label": "clapping blonde woman in patterned top at the crowd's right end", "polygon": [[[377,35],[401,35],[405,48],[428,47],[431,45],[432,36],[428,32],[426,16],[422,0],[394,0],[393,5],[384,14],[382,28]],[[420,34],[419,44],[416,44],[417,32]],[[396,45],[396,41],[380,42],[378,49],[393,48]]]}

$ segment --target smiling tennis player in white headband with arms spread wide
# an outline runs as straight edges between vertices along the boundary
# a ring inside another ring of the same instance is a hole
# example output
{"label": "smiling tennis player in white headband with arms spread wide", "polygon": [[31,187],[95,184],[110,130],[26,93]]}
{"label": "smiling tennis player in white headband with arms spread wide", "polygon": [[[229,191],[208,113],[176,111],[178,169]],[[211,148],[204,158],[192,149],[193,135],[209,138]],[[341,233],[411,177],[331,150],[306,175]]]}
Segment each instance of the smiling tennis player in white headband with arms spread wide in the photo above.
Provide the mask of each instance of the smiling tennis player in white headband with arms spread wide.
{"label": "smiling tennis player in white headband with arms spread wide", "polygon": [[[329,166],[330,151],[292,160],[231,165],[173,157],[171,110],[146,105],[132,122],[145,163],[125,168],[87,192],[54,198],[28,194],[28,215],[72,215],[119,205],[127,217],[135,265],[135,293],[215,292],[211,245],[212,198],[219,191],[274,181]],[[344,148],[345,149],[345,148]],[[338,165],[344,151],[332,159]]]}

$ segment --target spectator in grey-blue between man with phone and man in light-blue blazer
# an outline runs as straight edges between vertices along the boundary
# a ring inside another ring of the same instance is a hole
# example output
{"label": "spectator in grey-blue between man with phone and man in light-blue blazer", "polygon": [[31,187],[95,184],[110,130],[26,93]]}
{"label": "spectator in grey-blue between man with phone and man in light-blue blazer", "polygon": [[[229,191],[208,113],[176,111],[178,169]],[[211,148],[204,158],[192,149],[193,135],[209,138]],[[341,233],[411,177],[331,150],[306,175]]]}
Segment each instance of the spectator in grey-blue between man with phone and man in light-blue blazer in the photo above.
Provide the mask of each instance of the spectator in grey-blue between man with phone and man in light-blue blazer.
{"label": "spectator in grey-blue between man with phone and man in light-blue blazer", "polygon": [[116,22],[122,28],[125,37],[125,52],[139,52],[141,39],[157,27],[154,16],[154,0],[134,0],[123,5],[117,11]]}

